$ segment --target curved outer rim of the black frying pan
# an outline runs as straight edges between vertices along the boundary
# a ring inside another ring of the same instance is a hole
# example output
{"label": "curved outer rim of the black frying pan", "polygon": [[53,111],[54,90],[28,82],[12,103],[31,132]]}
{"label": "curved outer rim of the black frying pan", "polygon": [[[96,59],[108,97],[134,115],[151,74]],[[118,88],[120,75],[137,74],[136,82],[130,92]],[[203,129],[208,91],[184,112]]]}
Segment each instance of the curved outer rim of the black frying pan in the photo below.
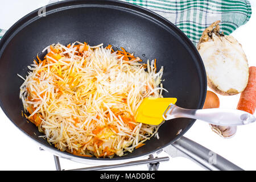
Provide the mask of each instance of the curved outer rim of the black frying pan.
{"label": "curved outer rim of the black frying pan", "polygon": [[[58,12],[60,10],[65,10],[65,9],[71,9],[74,6],[78,6],[78,5],[84,5],[84,6],[88,6],[88,5],[98,5],[98,6],[106,6],[109,5],[110,7],[114,6],[115,9],[130,9],[135,11],[136,13],[138,13],[139,15],[144,15],[147,16],[147,18],[151,18],[154,20],[154,22],[156,22],[157,24],[161,25],[161,26],[165,26],[169,29],[171,29],[172,31],[175,32],[175,34],[179,35],[180,38],[183,40],[183,42],[185,43],[184,45],[187,46],[188,50],[191,51],[193,53],[193,56],[197,57],[197,67],[200,68],[200,72],[201,72],[201,85],[202,85],[202,90],[201,90],[201,101],[199,102],[199,104],[197,105],[197,108],[195,109],[201,109],[204,105],[204,100],[206,97],[206,93],[207,93],[207,76],[206,76],[206,72],[205,72],[205,68],[204,68],[204,64],[203,64],[203,60],[201,60],[201,56],[199,55],[199,52],[197,51],[196,47],[193,45],[193,43],[191,42],[191,40],[189,40],[189,38],[184,34],[184,32],[182,32],[179,28],[177,28],[173,23],[171,23],[169,20],[167,20],[166,18],[163,18],[163,16],[160,16],[156,13],[154,13],[151,10],[145,9],[143,7],[137,6],[137,5],[133,5],[131,3],[127,3],[127,2],[122,2],[122,1],[114,1],[114,0],[105,0],[105,1],[78,1],[78,0],[68,0],[68,1],[61,1],[61,2],[56,2],[56,3],[52,3],[50,5],[46,6],[47,12],[49,14],[54,13],[54,11]],[[74,7],[76,8],[76,7]],[[0,60],[2,57],[2,53],[5,51],[5,47],[9,44],[10,40],[12,40],[13,36],[16,35],[17,32],[19,32],[19,30],[21,30],[24,26],[26,26],[26,24],[30,24],[31,22],[34,22],[35,20],[39,19],[38,16],[38,11],[40,9],[34,10],[31,13],[23,16],[23,18],[19,19],[18,22],[14,23],[13,26],[11,26],[9,28],[9,30],[7,30],[6,34],[3,35],[3,38],[0,40]],[[43,18],[43,17],[40,17]],[[200,61],[200,63],[199,63]],[[204,88],[204,90],[203,90]],[[2,101],[0,100],[0,106],[3,110],[3,112],[6,114],[7,118],[7,112],[4,109],[3,105],[2,105]],[[15,124],[15,122],[9,118],[9,120],[16,126],[18,127],[18,125]],[[109,162],[109,161],[121,161],[121,160],[129,160],[129,159],[135,159],[135,158],[141,158],[143,156],[147,156],[149,154],[155,153],[156,151],[159,151],[161,149],[163,149],[164,147],[174,143],[176,140],[178,140],[180,137],[182,137],[193,125],[193,123],[195,122],[195,119],[191,119],[191,123],[189,123],[189,125],[187,127],[185,127],[185,129],[183,131],[181,131],[181,133],[179,135],[176,136],[176,138],[172,139],[171,142],[167,143],[166,145],[156,148],[155,150],[152,150],[150,152],[147,152],[145,154],[141,154],[141,155],[137,155],[137,156],[122,156],[122,157],[117,157],[117,158],[89,158],[89,157],[85,157],[85,156],[76,156],[73,154],[69,154],[68,152],[61,152],[59,150],[57,150],[57,148],[53,149],[50,148],[48,146],[46,146],[44,143],[41,143],[38,140],[33,139],[29,134],[27,134],[25,131],[23,131],[22,129],[20,129],[20,127],[18,127],[18,129],[20,131],[22,131],[25,135],[27,135],[29,138],[31,138],[32,140],[34,140],[36,143],[39,143],[40,146],[42,146],[42,148],[47,148],[47,150],[51,150],[52,152],[55,151],[54,153],[60,156],[63,156],[64,158],[79,158],[81,160],[98,160],[100,162]],[[71,159],[72,160],[72,159]]]}

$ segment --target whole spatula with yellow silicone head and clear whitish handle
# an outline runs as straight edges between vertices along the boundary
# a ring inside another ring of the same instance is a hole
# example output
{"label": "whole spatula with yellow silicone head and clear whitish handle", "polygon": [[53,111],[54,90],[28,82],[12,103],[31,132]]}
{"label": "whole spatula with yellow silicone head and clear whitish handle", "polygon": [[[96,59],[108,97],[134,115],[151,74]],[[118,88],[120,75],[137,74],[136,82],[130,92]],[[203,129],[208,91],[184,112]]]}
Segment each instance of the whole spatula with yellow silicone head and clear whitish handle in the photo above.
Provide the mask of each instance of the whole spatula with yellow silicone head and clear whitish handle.
{"label": "whole spatula with yellow silicone head and clear whitish handle", "polygon": [[213,125],[238,126],[256,121],[253,114],[237,109],[184,109],[175,105],[176,98],[144,98],[135,120],[148,125],[159,125],[175,118],[200,119]]}

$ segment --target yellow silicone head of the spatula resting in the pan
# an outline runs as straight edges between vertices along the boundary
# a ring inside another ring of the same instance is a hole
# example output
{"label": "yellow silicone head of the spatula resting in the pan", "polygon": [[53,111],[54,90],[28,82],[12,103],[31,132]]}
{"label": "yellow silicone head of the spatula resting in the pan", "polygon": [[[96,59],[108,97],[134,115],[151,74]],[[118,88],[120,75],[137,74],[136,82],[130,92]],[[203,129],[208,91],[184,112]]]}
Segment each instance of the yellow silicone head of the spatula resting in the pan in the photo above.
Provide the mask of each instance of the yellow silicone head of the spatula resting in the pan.
{"label": "yellow silicone head of the spatula resting in the pan", "polygon": [[170,104],[175,104],[177,98],[144,98],[136,113],[136,122],[148,125],[159,125],[163,119],[163,113]]}

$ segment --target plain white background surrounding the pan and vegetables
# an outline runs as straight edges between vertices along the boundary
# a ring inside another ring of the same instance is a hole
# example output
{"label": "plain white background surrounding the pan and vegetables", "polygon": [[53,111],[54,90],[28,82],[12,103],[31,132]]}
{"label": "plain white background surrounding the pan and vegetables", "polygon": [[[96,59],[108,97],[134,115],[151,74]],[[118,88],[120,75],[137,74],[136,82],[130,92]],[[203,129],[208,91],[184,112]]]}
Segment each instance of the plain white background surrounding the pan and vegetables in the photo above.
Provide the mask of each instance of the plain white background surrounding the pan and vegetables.
{"label": "plain white background surrounding the pan and vegetables", "polygon": [[[0,28],[8,29],[22,16],[46,5],[48,0],[1,1]],[[251,1],[253,14],[245,25],[232,35],[242,44],[249,66],[256,65],[255,30],[256,2]],[[220,96],[221,108],[236,109],[240,95]],[[256,123],[238,127],[236,135],[229,139],[219,137],[203,121],[196,121],[185,137],[209,148],[245,170],[256,170]],[[158,156],[167,156],[164,152]],[[88,164],[60,159],[62,169],[89,167]],[[0,170],[55,170],[53,155],[39,150],[37,143],[24,135],[0,109]],[[116,169],[115,169],[116,170]],[[133,166],[118,170],[147,170],[147,166]],[[159,170],[203,170],[185,158],[170,158],[160,163]]]}

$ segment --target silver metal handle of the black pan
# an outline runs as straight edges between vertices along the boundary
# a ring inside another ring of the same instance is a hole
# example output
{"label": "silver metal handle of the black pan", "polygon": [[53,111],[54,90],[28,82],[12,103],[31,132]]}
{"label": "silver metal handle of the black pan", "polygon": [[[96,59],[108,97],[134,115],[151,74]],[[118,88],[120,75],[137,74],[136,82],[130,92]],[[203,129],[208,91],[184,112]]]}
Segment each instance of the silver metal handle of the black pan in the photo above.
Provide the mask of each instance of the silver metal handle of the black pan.
{"label": "silver metal handle of the black pan", "polygon": [[164,148],[164,151],[172,157],[183,156],[191,159],[201,167],[211,171],[243,171],[236,164],[185,137],[176,140]]}

